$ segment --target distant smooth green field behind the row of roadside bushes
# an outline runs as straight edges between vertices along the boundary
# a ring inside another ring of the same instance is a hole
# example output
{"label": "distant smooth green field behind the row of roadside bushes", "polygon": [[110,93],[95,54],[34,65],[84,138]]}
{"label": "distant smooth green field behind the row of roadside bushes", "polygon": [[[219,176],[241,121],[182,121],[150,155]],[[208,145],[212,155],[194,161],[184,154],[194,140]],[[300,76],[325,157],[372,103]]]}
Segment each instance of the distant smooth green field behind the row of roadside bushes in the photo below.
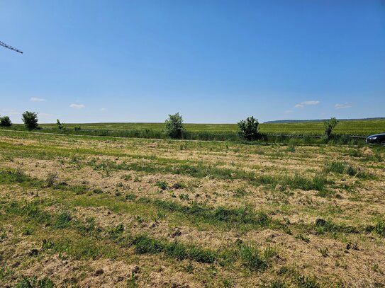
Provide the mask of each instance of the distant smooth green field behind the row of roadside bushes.
{"label": "distant smooth green field behind the row of roadside bushes", "polygon": [[[56,124],[40,125],[43,129],[55,129]],[[125,130],[154,130],[162,131],[164,123],[90,123],[90,124],[65,124],[68,129],[74,129],[75,126],[81,129],[104,129],[110,131]],[[23,125],[15,125],[21,129]],[[237,132],[236,124],[185,124],[188,132],[205,133],[229,133]],[[311,134],[322,135],[324,133],[323,122],[298,122],[298,123],[262,123],[260,132],[267,134]],[[385,133],[385,120],[351,120],[340,121],[335,127],[335,134],[349,134],[356,136],[369,136],[371,134]]]}

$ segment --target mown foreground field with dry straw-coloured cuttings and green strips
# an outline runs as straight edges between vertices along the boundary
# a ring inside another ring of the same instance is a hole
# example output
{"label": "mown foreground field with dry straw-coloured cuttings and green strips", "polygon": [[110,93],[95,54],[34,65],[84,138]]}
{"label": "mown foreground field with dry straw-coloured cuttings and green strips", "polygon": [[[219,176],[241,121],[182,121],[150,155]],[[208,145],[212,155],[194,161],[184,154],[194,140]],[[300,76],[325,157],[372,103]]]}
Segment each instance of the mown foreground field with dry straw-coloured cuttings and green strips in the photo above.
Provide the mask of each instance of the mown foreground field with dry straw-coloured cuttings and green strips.
{"label": "mown foreground field with dry straw-coloured cuttings and green strips", "polygon": [[0,286],[384,287],[384,159],[0,131]]}

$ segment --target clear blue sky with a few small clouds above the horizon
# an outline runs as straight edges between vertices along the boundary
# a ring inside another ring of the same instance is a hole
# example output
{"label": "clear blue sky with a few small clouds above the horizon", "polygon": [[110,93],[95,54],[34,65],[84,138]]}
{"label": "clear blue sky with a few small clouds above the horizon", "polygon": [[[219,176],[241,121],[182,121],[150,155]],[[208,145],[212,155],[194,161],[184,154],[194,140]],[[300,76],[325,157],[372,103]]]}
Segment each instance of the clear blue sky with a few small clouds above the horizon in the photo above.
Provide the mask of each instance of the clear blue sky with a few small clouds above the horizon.
{"label": "clear blue sky with a few small clouds above the horizon", "polygon": [[385,116],[385,1],[0,1],[21,122]]}

